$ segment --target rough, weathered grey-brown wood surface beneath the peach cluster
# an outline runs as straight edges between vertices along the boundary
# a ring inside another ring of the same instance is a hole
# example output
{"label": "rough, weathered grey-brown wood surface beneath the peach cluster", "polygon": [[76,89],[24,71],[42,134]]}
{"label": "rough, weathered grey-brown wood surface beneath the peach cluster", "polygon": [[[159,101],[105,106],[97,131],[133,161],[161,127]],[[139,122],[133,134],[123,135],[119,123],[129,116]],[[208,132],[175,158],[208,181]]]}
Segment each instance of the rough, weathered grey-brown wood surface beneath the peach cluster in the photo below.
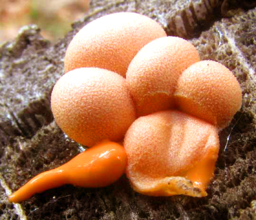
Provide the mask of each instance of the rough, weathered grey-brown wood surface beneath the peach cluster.
{"label": "rough, weathered grey-brown wood surface beneath the peach cluster", "polygon": [[[98,0],[85,18],[55,45],[34,25],[0,47],[0,219],[162,220],[256,219],[256,8],[238,0]],[[55,125],[50,93],[64,74],[64,54],[88,22],[117,11],[158,21],[169,35],[183,36],[201,59],[219,61],[237,77],[242,109],[219,134],[215,177],[205,198],[139,195],[126,177],[102,189],[63,186],[9,204],[7,194],[57,167],[80,147]]]}

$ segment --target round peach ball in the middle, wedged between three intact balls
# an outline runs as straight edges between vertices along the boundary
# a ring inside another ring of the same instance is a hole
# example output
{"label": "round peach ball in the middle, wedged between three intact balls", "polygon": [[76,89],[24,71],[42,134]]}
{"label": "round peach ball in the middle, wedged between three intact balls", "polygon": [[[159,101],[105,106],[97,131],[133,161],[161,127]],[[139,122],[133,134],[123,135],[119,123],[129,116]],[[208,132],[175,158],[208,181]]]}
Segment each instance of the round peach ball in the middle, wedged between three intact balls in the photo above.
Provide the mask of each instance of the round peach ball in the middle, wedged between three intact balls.
{"label": "round peach ball in the middle, wedged between three intact balls", "polygon": [[179,37],[162,37],[146,44],[126,74],[137,115],[171,109],[179,76],[199,60],[195,47]]}

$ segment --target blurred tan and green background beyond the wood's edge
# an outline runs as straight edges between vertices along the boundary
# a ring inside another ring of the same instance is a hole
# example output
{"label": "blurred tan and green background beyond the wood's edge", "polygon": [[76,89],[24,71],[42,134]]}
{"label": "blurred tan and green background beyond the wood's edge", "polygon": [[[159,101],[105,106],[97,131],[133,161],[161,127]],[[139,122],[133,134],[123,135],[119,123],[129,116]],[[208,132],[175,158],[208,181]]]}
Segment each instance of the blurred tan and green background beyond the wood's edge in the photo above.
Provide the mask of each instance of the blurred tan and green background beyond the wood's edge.
{"label": "blurred tan and green background beyond the wood's edge", "polygon": [[0,0],[0,44],[13,40],[28,24],[37,24],[41,34],[55,42],[89,7],[90,0]]}

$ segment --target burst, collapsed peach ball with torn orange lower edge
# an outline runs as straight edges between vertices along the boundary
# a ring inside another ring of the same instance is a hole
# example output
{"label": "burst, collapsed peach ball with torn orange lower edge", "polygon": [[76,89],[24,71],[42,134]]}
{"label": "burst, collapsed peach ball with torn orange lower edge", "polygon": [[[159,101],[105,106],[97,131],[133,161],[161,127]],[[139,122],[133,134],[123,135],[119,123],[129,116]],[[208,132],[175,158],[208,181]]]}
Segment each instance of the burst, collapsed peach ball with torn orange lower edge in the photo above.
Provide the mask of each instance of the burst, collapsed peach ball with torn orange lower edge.
{"label": "burst, collapsed peach ball with torn orange lower edge", "polygon": [[219,152],[215,126],[180,111],[137,118],[124,147],[135,191],[153,196],[206,196]]}

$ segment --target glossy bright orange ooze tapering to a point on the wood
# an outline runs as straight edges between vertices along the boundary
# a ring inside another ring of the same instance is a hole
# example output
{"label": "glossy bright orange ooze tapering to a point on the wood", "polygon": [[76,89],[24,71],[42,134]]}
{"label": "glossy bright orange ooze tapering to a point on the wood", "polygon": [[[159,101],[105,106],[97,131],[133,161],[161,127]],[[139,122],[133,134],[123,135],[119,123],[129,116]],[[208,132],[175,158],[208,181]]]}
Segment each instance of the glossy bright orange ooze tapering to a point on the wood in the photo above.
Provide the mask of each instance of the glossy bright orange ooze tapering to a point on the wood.
{"label": "glossy bright orange ooze tapering to a point on the wood", "polygon": [[19,203],[36,193],[64,184],[82,187],[109,186],[125,172],[126,164],[124,148],[117,143],[103,141],[64,165],[32,178],[9,196],[9,202]]}

